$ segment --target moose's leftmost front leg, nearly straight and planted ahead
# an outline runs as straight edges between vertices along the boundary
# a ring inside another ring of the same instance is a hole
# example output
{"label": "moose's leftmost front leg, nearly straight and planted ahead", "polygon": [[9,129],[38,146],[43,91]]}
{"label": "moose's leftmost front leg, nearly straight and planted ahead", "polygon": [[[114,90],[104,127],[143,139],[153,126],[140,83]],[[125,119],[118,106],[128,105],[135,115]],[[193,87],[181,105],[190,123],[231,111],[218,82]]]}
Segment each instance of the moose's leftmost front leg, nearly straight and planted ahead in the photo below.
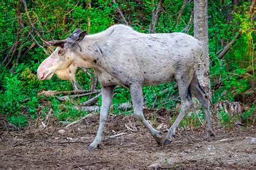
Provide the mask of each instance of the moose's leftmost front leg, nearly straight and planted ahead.
{"label": "moose's leftmost front leg, nearly straight and planted ahead", "polygon": [[113,91],[114,86],[102,87],[102,108],[100,109],[99,129],[95,140],[87,147],[87,151],[92,151],[93,148],[98,147],[102,141],[102,133],[106,123],[107,114],[112,103]]}

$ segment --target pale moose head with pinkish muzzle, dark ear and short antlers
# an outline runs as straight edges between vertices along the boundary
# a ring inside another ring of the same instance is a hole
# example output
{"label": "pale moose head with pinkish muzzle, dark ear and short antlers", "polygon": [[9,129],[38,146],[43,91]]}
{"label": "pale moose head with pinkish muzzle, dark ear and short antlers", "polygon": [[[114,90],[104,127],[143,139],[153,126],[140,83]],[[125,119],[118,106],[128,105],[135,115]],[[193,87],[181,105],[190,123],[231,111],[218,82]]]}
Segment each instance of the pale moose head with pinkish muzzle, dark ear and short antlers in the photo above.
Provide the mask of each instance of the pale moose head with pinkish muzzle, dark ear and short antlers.
{"label": "pale moose head with pinkish muzzle, dark ear and short antlers", "polygon": [[57,47],[55,51],[45,59],[37,69],[39,80],[49,80],[53,74],[57,74],[63,80],[75,80],[77,70],[76,57],[82,51],[78,42],[82,41],[86,31],[76,29],[64,40],[45,41],[45,46]]}

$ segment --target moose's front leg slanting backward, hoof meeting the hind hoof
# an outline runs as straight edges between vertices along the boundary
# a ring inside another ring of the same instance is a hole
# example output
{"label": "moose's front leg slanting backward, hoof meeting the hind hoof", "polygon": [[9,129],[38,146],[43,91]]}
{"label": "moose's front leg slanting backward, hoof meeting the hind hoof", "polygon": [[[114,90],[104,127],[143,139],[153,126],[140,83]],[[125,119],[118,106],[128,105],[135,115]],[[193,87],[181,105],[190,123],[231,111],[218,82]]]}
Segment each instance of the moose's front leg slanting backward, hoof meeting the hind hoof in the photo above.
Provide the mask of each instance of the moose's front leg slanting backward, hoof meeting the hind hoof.
{"label": "moose's front leg slanting backward, hoof meeting the hind hoof", "polygon": [[160,132],[154,129],[149,122],[146,121],[145,117],[143,116],[143,93],[142,93],[142,86],[138,84],[132,84],[130,87],[131,90],[131,97],[132,97],[132,104],[133,104],[133,111],[136,118],[142,122],[147,130],[151,133],[151,135],[156,139],[158,144],[163,143],[163,138],[160,136]]}

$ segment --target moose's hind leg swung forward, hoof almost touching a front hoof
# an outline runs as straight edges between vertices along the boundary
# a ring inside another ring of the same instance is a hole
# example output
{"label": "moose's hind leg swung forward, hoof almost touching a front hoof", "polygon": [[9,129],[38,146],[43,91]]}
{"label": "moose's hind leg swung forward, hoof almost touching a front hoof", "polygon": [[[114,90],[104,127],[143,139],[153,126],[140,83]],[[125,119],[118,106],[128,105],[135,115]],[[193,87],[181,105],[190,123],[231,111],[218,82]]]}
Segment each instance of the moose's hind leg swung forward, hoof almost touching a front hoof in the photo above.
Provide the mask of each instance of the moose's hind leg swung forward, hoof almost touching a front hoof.
{"label": "moose's hind leg swung forward, hoof almost touching a front hoof", "polygon": [[176,121],[171,126],[169,132],[167,133],[164,141],[164,145],[168,145],[171,143],[173,137],[175,136],[176,129],[178,128],[180,122],[184,118],[186,111],[193,107],[193,101],[191,99],[191,92],[190,92],[190,81],[184,81],[181,79],[176,79],[177,85],[179,88],[179,94],[181,98],[181,110],[179,116],[177,117]]}

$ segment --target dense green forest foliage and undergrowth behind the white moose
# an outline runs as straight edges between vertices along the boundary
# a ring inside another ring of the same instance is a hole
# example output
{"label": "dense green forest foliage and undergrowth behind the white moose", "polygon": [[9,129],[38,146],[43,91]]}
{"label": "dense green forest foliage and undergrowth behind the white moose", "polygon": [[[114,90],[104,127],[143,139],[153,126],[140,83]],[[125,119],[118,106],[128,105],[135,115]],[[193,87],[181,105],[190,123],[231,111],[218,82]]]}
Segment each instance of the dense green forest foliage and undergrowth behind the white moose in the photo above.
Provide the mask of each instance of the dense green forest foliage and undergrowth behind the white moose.
{"label": "dense green forest foliage and undergrowth behind the white moose", "polygon": [[[233,126],[255,123],[255,1],[208,1],[208,40],[212,103],[240,102],[240,114],[219,110],[219,121]],[[81,27],[87,33],[104,31],[114,24],[126,24],[142,33],[184,32],[193,36],[193,1],[8,1],[0,4],[0,118],[15,126],[26,126],[38,117],[56,121],[76,121],[89,112],[82,103],[100,105],[100,95],[92,69],[78,69],[77,83],[82,95],[70,95],[73,83],[53,76],[39,81],[36,70],[54,48],[43,41],[65,39]],[[161,69],[161,68],[159,68]],[[57,90],[65,93],[50,91]],[[95,91],[90,93],[90,91]],[[174,82],[143,88],[147,108],[179,109],[178,90]],[[83,94],[86,94],[83,96]],[[75,96],[74,96],[75,95]],[[96,95],[96,97],[95,97]],[[63,96],[69,100],[63,100]],[[113,98],[112,114],[131,114],[119,109],[131,102],[129,89],[118,86]],[[185,119],[181,126],[200,125],[202,112]],[[170,122],[175,120],[170,119]],[[191,124],[192,123],[192,124]]]}

